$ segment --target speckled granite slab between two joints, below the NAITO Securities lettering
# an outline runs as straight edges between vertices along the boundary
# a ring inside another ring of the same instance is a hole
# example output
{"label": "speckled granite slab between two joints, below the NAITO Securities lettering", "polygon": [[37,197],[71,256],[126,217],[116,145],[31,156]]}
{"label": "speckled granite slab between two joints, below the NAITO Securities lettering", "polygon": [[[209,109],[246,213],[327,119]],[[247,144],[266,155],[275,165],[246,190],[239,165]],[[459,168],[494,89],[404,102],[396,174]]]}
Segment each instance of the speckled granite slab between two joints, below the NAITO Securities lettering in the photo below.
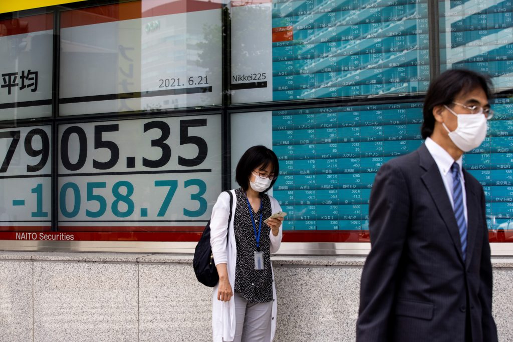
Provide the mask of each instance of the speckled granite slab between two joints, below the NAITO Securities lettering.
{"label": "speckled granite slab between two joints, below the NAITO Securities lettering", "polygon": [[137,340],[137,265],[34,261],[34,342]]}

